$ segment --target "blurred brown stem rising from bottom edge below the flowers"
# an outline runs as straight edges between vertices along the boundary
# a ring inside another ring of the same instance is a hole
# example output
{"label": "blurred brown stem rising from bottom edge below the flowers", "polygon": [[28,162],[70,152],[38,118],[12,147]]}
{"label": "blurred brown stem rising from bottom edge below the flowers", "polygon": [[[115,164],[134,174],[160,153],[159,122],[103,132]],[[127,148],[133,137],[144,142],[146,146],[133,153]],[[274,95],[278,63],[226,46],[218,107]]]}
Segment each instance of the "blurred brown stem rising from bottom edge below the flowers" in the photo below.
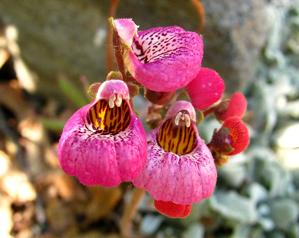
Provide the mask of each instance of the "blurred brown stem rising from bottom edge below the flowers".
{"label": "blurred brown stem rising from bottom edge below the flowers", "polygon": [[132,219],[134,218],[137,208],[144,197],[145,192],[142,189],[136,188],[133,191],[130,202],[126,203],[123,216],[120,220],[121,237],[129,238],[131,236]]}

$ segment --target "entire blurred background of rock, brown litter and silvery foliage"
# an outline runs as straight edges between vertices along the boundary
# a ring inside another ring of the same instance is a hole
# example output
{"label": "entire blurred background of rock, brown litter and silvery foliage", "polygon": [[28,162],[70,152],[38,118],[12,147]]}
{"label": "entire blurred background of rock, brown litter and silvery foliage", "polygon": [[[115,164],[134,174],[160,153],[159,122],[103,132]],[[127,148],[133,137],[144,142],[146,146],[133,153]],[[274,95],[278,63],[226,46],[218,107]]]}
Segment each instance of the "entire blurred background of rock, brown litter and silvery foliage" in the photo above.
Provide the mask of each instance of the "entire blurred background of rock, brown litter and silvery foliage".
{"label": "entire blurred background of rock, brown litter and silvery foliage", "polygon": [[[202,0],[204,65],[249,101],[250,148],[183,221],[145,198],[137,237],[299,237],[299,1]],[[86,188],[56,158],[65,120],[107,74],[108,0],[0,0],[0,237],[119,237],[130,187]],[[121,0],[141,29],[196,31],[191,1]],[[142,108],[142,98],[136,99]],[[199,126],[209,140],[216,121]],[[208,128],[208,129],[207,129]],[[126,194],[124,197],[123,195]]]}

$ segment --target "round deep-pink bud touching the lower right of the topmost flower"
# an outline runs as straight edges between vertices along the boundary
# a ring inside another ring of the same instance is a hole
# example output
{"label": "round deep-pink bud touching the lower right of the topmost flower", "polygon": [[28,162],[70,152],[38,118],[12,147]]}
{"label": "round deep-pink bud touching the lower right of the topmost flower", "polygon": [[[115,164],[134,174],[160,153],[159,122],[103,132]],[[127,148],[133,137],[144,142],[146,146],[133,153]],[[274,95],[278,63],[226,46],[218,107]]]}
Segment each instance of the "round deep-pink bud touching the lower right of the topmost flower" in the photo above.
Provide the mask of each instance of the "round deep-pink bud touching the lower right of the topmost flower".
{"label": "round deep-pink bud touching the lower right of the topmost flower", "polygon": [[224,81],[209,68],[201,68],[198,75],[187,86],[193,106],[205,110],[217,102],[224,92]]}

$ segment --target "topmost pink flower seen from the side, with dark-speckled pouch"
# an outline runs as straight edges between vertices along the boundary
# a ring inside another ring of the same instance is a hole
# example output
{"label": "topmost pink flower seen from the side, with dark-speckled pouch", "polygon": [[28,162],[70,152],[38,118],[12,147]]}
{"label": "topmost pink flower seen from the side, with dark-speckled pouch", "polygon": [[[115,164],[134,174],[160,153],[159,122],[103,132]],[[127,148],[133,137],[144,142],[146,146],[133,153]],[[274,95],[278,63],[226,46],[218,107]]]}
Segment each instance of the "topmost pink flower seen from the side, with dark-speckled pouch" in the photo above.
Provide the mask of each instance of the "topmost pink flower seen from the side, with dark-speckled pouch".
{"label": "topmost pink flower seen from the side, with dark-speckled pouch", "polygon": [[197,75],[203,57],[203,41],[197,33],[177,26],[137,31],[132,19],[117,19],[113,24],[125,46],[127,70],[146,88],[175,91]]}

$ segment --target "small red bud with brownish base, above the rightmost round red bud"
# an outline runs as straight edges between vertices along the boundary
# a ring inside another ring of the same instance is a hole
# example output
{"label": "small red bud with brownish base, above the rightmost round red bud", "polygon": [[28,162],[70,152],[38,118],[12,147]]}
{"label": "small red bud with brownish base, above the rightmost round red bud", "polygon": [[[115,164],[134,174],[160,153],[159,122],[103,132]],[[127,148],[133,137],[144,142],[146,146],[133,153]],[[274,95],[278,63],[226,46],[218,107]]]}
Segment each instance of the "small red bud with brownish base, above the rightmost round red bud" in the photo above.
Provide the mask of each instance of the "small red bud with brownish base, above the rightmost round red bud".
{"label": "small red bud with brownish base, above the rightmost round red bud", "polygon": [[243,93],[236,92],[230,99],[222,101],[214,110],[218,120],[225,121],[229,117],[242,118],[247,109],[247,100]]}

